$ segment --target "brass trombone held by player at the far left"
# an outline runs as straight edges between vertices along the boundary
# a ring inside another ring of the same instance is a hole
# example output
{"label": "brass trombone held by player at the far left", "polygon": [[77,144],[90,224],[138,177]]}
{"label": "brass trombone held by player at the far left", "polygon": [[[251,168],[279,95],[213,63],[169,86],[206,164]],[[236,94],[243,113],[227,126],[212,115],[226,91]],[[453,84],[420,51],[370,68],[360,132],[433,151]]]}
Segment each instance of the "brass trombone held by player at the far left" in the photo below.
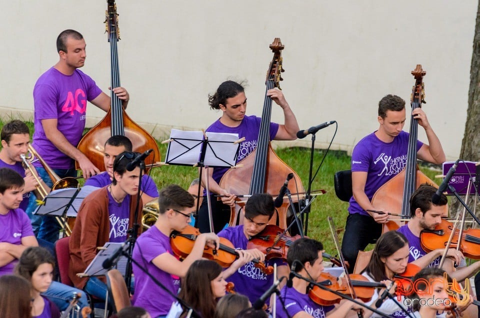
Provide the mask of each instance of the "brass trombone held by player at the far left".
{"label": "brass trombone held by player at the far left", "polygon": [[[56,174],[49,166],[46,164],[46,162],[43,160],[38,155],[38,152],[31,146],[31,144],[28,144],[28,155],[20,154],[20,158],[22,160],[22,165],[25,170],[29,170],[33,177],[35,178],[36,182],[38,185],[36,186],[36,189],[33,190],[33,193],[39,200],[43,200],[45,196],[50,192],[48,189],[46,189],[43,184],[41,183],[41,179],[37,176],[36,171],[34,168],[31,166],[31,162],[33,161],[34,158],[38,159],[40,161],[41,165],[43,165],[43,168],[46,170],[48,173],[48,176],[53,182],[53,186],[51,187],[51,190],[57,190],[57,189],[63,189],[63,188],[68,188],[68,187],[73,187],[76,188],[78,187],[78,180],[75,179],[74,177],[67,176],[64,178],[60,178],[58,174]],[[64,217],[61,216],[55,216],[56,221],[60,224],[62,229],[64,229],[64,233],[66,236],[70,236],[71,234],[71,228],[73,225],[69,225],[68,218],[65,219]],[[74,221],[74,219],[73,219]],[[73,224],[73,223],[72,223]]]}

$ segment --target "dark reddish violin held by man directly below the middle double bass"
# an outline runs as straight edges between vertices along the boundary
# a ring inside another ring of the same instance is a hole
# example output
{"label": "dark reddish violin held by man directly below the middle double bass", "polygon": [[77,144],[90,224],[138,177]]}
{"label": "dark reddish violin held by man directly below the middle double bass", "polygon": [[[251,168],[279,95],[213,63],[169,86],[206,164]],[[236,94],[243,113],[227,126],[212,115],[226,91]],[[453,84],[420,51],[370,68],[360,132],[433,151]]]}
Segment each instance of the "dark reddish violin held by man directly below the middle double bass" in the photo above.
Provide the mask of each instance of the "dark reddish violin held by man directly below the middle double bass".
{"label": "dark reddish violin held by man directly below the middle double bass", "polygon": [[280,227],[267,224],[261,232],[248,239],[246,248],[257,248],[265,254],[266,260],[271,258],[286,260],[288,247],[298,238],[301,238],[299,234],[288,236],[284,234]]}

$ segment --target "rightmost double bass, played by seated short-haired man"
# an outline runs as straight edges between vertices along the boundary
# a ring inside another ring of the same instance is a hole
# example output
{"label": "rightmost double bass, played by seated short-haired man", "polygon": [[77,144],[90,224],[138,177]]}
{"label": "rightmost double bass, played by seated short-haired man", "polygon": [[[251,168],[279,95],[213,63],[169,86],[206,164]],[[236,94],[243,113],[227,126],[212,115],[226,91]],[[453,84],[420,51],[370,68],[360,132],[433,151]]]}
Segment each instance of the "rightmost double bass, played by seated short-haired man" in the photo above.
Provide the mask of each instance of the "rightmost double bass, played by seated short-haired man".
{"label": "rightmost double bass, played by seated short-haired man", "polygon": [[[423,76],[426,72],[421,68],[420,64],[417,64],[415,69],[411,71],[411,74],[415,77],[415,84],[413,85],[410,96],[411,110],[413,111],[421,107],[422,103],[425,103]],[[421,183],[427,182],[438,187],[435,182],[418,168],[416,163],[417,138],[418,121],[411,115],[405,168],[380,186],[371,198],[371,204],[373,204],[373,206],[399,213],[402,219],[410,217],[410,196]],[[403,189],[403,191],[400,192],[400,189]],[[401,221],[390,220],[384,223],[383,232],[397,229],[401,225],[400,222]]]}

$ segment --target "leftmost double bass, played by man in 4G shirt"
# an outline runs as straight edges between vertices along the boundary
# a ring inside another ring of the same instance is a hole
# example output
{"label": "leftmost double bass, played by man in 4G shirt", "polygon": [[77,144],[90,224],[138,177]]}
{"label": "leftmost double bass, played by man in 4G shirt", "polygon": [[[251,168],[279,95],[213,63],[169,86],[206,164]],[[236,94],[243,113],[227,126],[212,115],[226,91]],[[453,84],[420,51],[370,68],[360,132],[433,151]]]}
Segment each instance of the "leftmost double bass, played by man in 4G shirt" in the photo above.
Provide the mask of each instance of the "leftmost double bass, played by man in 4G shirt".
{"label": "leftmost double bass, played by man in 4G shirt", "polygon": [[[110,42],[110,87],[120,87],[118,48],[116,43],[120,39],[120,33],[114,0],[107,0],[105,31],[108,33],[108,41]],[[153,155],[145,158],[145,164],[159,161],[160,150],[156,140],[126,114],[121,105],[121,100],[113,92],[110,94],[110,99],[110,109],[108,109],[108,112],[100,122],[83,135],[78,143],[78,150],[84,153],[100,171],[103,171],[105,169],[103,147],[106,139],[110,136],[124,135],[130,139],[133,151],[143,152],[147,149],[153,149]],[[78,162],[75,162],[75,167],[76,169],[80,168]]]}

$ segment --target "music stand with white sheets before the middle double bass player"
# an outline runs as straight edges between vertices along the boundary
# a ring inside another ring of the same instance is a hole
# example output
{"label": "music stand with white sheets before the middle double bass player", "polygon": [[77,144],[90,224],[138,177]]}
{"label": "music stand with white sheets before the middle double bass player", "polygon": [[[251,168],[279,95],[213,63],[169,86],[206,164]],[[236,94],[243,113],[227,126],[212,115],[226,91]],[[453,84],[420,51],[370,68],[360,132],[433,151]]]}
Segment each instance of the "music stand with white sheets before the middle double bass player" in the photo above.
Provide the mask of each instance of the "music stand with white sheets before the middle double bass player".
{"label": "music stand with white sheets before the middle double bass player", "polygon": [[[169,142],[165,163],[200,167],[199,180],[201,182],[202,168],[208,171],[208,167],[235,167],[236,156],[242,140],[244,139],[238,139],[236,133],[171,129],[170,138],[163,141]],[[213,231],[208,178],[205,185],[210,231]],[[199,190],[200,187],[198,187]],[[199,200],[197,200],[197,213],[198,204]]]}

